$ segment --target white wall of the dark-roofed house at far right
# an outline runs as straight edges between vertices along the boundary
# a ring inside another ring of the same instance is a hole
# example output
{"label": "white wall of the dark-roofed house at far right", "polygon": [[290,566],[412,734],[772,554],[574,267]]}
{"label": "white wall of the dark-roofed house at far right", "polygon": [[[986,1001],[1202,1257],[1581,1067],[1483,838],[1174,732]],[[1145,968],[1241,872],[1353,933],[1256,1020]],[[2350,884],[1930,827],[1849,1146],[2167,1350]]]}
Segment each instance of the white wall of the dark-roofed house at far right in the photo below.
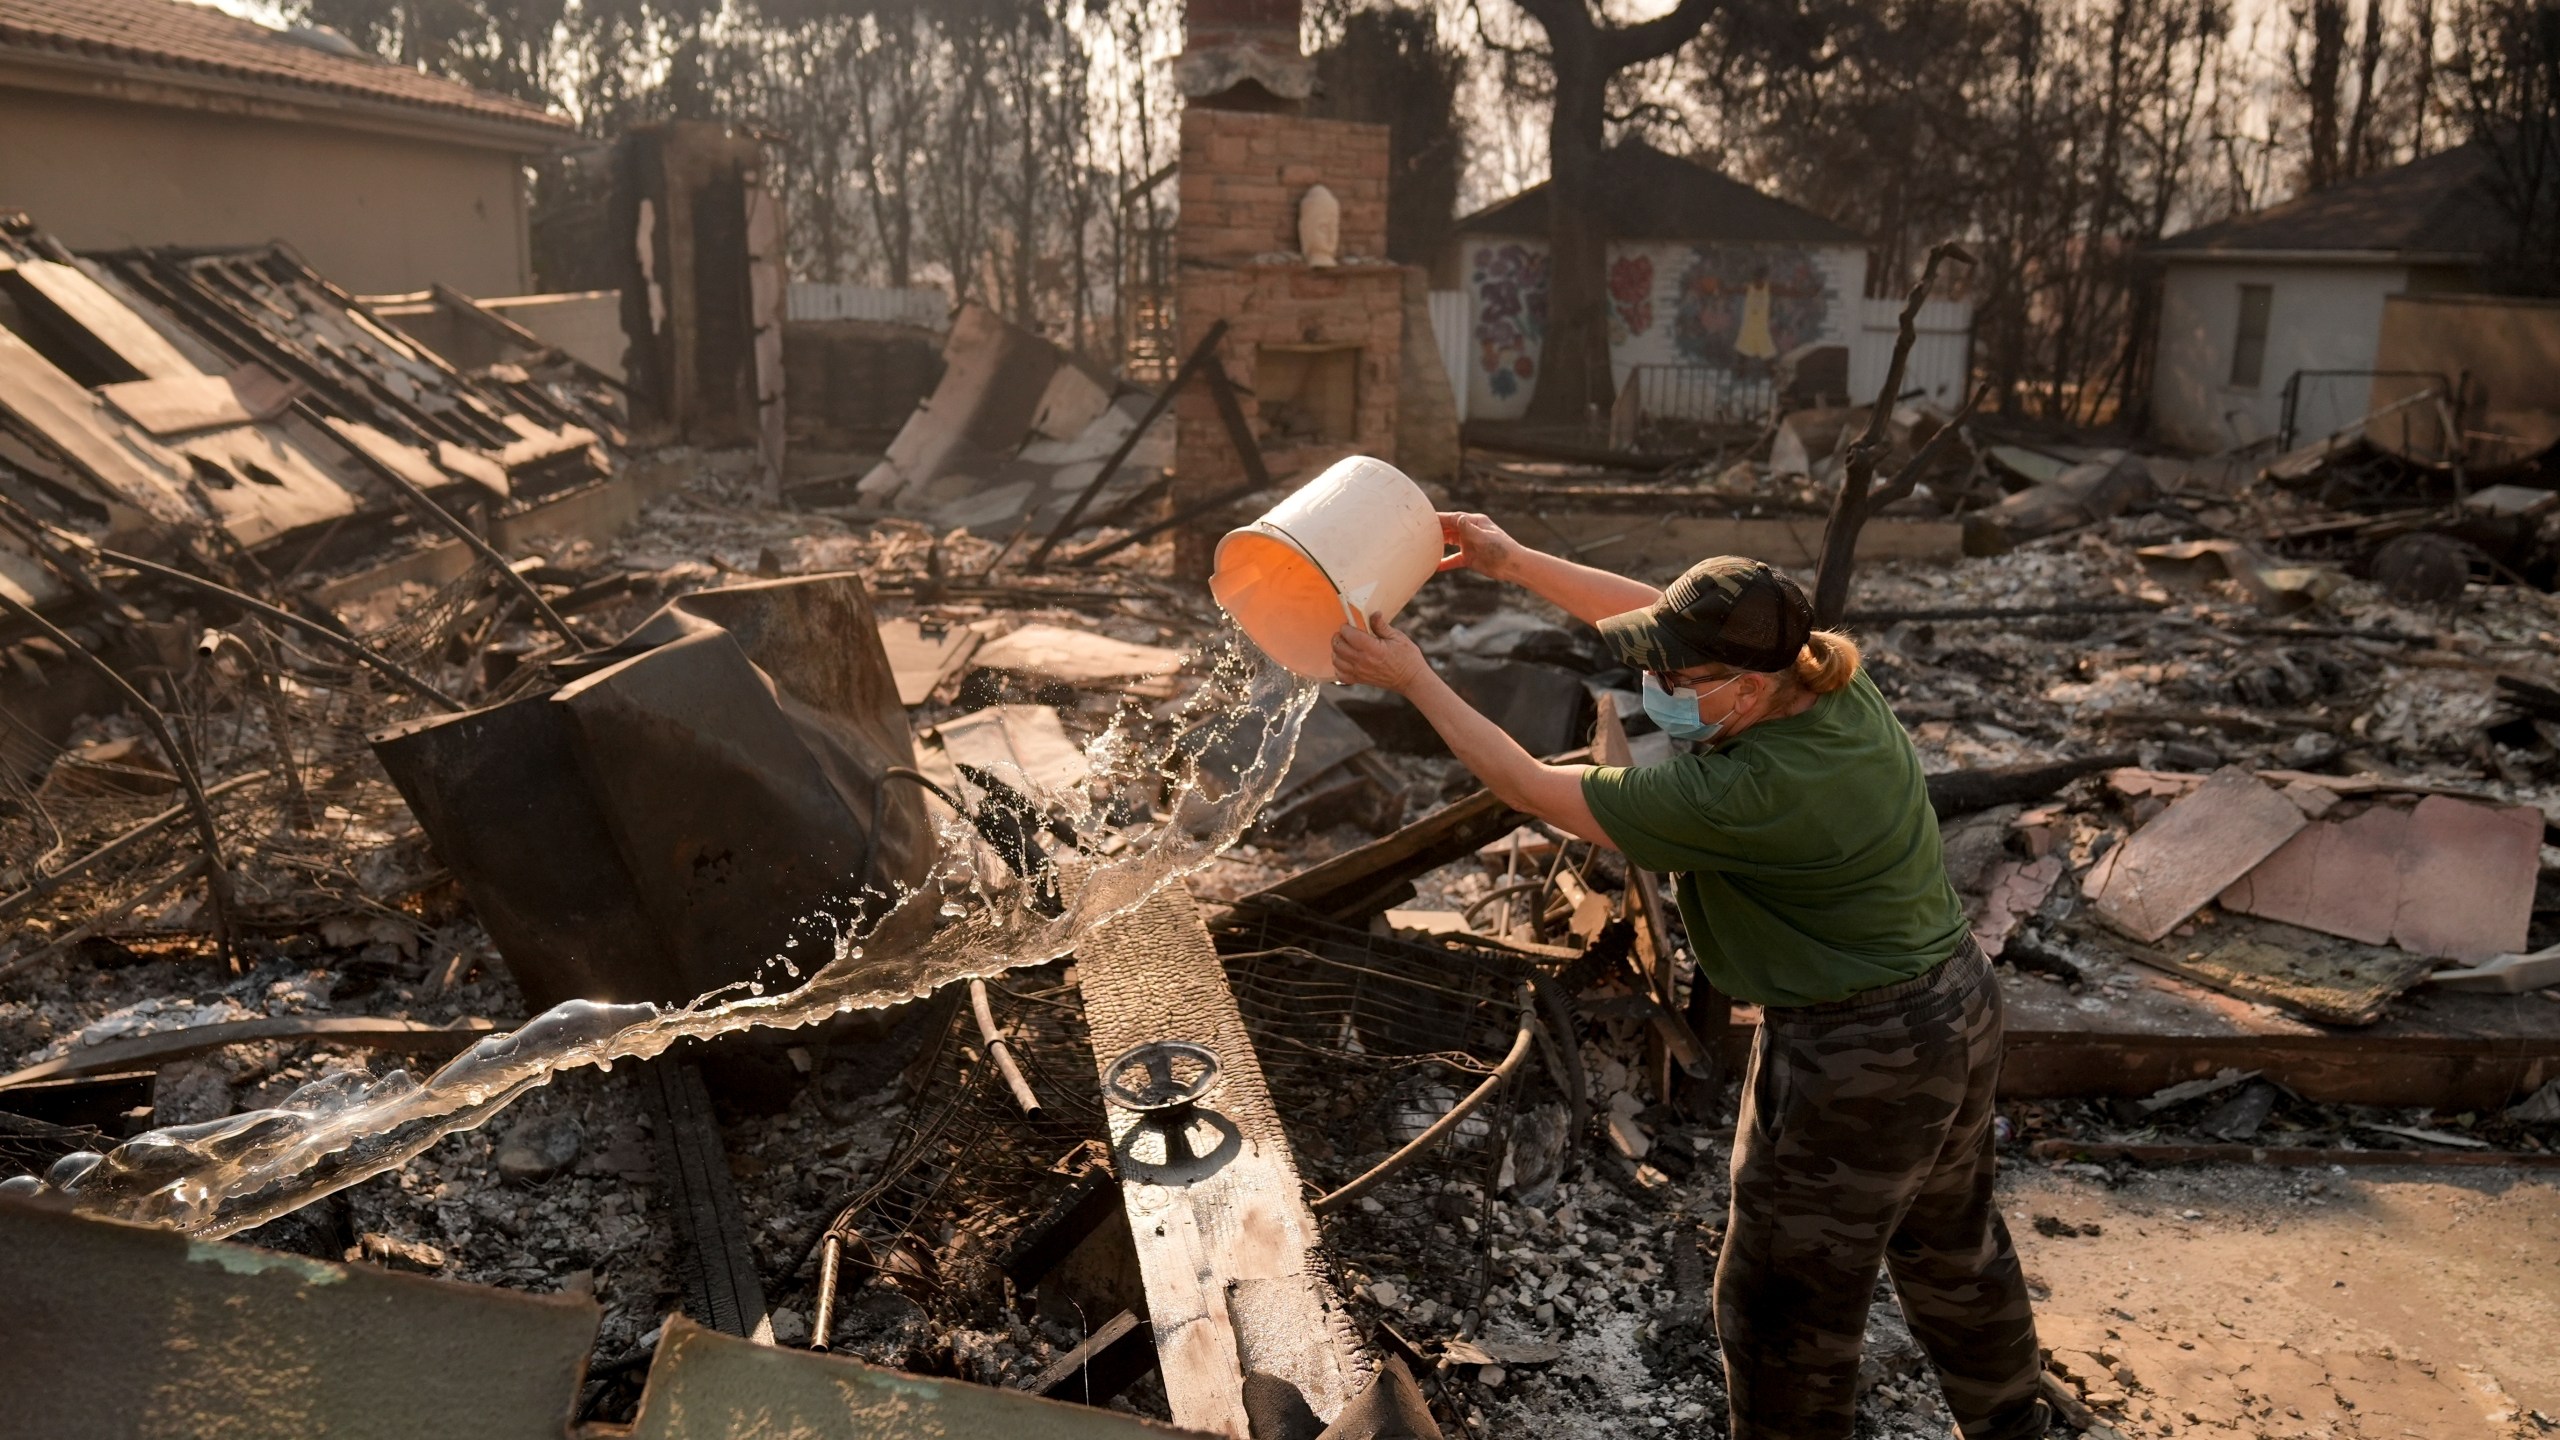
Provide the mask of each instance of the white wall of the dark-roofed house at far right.
{"label": "white wall of the dark-roofed house at far right", "polygon": [[[2266,364],[2255,387],[2235,387],[2240,287],[2266,284]],[[2284,382],[2299,369],[2371,369],[2383,297],[2409,287],[2396,264],[2171,261],[2161,282],[2161,354],[2150,382],[2153,430],[2191,451],[2222,451],[2276,433]],[[2371,379],[2304,379],[2296,443],[2365,415]]]}

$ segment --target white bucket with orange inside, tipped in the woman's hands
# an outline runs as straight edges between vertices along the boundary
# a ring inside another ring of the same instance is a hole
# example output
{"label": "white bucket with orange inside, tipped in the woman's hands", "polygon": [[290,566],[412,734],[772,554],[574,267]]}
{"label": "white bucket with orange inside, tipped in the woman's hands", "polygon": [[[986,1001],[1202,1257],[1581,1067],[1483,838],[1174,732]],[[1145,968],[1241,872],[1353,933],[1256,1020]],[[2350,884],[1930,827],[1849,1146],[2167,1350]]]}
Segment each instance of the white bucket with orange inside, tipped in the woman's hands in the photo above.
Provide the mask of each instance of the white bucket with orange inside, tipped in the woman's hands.
{"label": "white bucket with orange inside, tipped in the woman's hands", "polygon": [[1439,512],[1423,487],[1388,461],[1352,456],[1229,530],[1208,592],[1275,661],[1336,679],[1334,630],[1393,618],[1439,561]]}

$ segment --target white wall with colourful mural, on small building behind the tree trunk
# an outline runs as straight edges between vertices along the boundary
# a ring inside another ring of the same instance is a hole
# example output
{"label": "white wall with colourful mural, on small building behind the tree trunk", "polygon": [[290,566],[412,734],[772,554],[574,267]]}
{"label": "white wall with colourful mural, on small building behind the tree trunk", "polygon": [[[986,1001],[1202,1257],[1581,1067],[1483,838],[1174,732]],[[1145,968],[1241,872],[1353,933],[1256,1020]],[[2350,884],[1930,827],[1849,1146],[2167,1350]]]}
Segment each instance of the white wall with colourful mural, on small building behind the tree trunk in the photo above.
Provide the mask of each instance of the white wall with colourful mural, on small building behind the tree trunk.
{"label": "white wall with colourful mural, on small building behind the tree trunk", "polygon": [[[1546,246],[1467,241],[1475,359],[1467,413],[1516,420],[1536,392],[1546,336]],[[1856,246],[1610,246],[1610,361],[1618,384],[1638,364],[1710,369],[1766,382],[1777,356],[1805,343],[1851,343],[1866,254]]]}

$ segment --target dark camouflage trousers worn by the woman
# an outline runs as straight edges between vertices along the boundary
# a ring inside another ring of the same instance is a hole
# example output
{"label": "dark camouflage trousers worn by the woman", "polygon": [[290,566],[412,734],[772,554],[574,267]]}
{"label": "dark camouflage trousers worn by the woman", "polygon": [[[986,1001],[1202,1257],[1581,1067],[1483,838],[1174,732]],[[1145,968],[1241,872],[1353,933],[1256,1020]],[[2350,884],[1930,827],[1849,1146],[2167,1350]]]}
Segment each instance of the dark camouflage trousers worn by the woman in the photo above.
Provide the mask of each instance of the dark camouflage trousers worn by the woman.
{"label": "dark camouflage trousers worn by the woman", "polygon": [[1999,1038],[1971,940],[1915,981],[1764,1017],[1715,1271],[1733,1440],[1851,1432],[1879,1261],[1966,1440],[2043,1437],[2035,1317],[1992,1202]]}

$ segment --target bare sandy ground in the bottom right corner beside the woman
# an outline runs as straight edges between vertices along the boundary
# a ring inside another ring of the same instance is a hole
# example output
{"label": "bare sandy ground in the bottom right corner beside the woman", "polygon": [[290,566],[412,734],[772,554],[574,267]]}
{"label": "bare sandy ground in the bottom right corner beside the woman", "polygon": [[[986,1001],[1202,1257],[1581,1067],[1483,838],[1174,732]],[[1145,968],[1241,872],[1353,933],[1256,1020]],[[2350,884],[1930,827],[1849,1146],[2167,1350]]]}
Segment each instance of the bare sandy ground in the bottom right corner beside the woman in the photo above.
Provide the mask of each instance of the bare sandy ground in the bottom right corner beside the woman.
{"label": "bare sandy ground in the bottom right corner beside the woman", "polygon": [[2020,1168],[2002,1207],[2045,1345],[2127,1437],[2437,1440],[2560,1417],[2552,1181]]}

